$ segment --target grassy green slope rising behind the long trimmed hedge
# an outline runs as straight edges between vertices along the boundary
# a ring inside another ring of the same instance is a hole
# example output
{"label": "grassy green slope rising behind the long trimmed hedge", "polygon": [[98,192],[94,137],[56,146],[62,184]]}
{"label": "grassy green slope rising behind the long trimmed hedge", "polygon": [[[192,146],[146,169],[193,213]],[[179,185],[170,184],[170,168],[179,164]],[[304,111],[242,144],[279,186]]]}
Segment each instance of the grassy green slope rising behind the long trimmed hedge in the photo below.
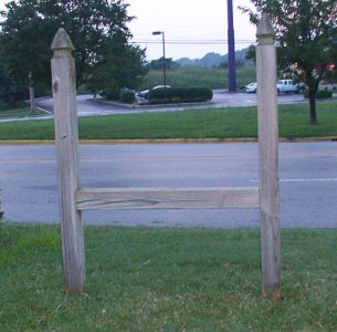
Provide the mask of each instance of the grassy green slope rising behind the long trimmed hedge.
{"label": "grassy green slope rising behind the long trimmed hedge", "polygon": [[[240,68],[236,72],[238,86],[256,81],[255,68]],[[149,71],[139,90],[151,89],[162,84],[162,71]],[[167,84],[175,87],[201,86],[209,89],[228,89],[228,70],[206,68],[182,68],[167,71]]]}

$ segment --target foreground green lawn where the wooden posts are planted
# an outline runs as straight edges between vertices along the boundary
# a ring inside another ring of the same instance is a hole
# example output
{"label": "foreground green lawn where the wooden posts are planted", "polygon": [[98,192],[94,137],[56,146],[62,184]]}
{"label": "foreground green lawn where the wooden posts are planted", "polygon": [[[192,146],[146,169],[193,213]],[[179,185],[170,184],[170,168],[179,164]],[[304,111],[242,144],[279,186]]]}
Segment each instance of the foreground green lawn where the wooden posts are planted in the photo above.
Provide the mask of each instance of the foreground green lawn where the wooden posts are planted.
{"label": "foreground green lawn where the wooden posts are planted", "polygon": [[337,230],[284,230],[284,300],[261,295],[260,231],[86,227],[65,294],[57,226],[4,224],[0,331],[336,331]]}

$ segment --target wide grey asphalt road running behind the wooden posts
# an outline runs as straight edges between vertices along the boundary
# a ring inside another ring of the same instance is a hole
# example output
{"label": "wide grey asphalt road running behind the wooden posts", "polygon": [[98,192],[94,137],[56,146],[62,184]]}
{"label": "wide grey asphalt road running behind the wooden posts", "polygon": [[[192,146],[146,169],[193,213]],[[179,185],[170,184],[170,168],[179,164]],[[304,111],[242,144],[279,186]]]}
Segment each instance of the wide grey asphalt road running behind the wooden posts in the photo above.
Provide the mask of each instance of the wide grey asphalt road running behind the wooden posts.
{"label": "wide grey asphalt road running behind the wooden posts", "polygon": [[[52,145],[0,146],[6,219],[57,222]],[[336,143],[281,143],[282,227],[337,226]],[[85,187],[257,186],[257,144],[83,145]],[[92,225],[259,227],[259,210],[85,211]]]}

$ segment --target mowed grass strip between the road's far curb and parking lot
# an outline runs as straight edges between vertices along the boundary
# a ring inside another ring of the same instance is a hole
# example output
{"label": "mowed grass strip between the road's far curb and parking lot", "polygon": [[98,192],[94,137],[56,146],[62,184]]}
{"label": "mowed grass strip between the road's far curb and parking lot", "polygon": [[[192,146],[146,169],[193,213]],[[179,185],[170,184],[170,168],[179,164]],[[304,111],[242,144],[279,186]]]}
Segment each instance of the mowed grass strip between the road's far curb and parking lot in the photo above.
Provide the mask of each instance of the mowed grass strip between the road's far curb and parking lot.
{"label": "mowed grass strip between the road's far curb and parking lot", "polygon": [[[280,105],[280,137],[337,136],[337,102],[317,103],[318,124],[308,104]],[[81,139],[256,138],[256,107],[203,108],[80,117]],[[0,123],[0,141],[53,139],[53,121]]]}

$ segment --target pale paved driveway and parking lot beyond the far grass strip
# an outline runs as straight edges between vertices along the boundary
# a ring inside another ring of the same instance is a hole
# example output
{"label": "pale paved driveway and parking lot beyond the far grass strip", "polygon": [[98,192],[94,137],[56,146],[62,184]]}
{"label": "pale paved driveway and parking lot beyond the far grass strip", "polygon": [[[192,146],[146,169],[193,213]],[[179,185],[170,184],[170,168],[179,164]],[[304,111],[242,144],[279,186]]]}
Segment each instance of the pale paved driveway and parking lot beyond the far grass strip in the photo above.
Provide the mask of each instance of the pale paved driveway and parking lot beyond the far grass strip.
{"label": "pale paved driveway and parking lot beyond the far grass strip", "polygon": [[[280,104],[303,102],[303,94],[283,94],[277,97]],[[40,98],[35,102],[36,106],[53,113],[53,100]],[[92,95],[77,96],[77,113],[85,115],[123,114],[139,112],[160,112],[160,111],[181,111],[186,108],[202,107],[229,107],[229,106],[251,106],[256,105],[256,94],[254,93],[229,93],[224,90],[214,90],[211,102],[185,105],[141,105],[126,106],[116,103],[103,102],[93,98]]]}

